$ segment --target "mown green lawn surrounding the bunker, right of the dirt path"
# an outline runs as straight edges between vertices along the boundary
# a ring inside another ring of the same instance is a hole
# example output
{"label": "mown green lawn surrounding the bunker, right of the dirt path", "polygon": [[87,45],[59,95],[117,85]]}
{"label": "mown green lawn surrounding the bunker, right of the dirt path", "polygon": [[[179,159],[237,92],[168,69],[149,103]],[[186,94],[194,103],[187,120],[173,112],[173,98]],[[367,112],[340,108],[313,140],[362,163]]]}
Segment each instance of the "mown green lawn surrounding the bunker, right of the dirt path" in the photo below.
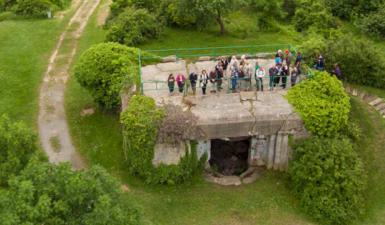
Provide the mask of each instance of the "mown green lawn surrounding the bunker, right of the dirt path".
{"label": "mown green lawn surrounding the bunker, right of the dirt path", "polygon": [[[80,43],[80,52],[103,41],[105,32],[96,24],[97,13],[91,18]],[[144,49],[206,47],[225,45],[295,43],[298,37],[288,33],[258,33],[247,37],[230,34],[218,36],[215,27],[207,32],[168,28],[160,40],[147,43]],[[79,55],[77,56],[79,57]],[[385,121],[366,105],[353,100],[352,115],[363,129],[358,149],[367,163],[369,190],[368,210],[357,224],[385,224]],[[95,114],[80,116],[85,108]],[[289,191],[284,174],[265,173],[260,180],[241,187],[221,187],[198,179],[178,187],[148,186],[127,175],[121,151],[119,116],[102,112],[74,79],[69,82],[66,108],[76,147],[90,165],[99,164],[121,178],[129,187],[127,201],[135,202],[153,224],[313,224],[301,212]],[[382,138],[382,139],[381,139]]]}

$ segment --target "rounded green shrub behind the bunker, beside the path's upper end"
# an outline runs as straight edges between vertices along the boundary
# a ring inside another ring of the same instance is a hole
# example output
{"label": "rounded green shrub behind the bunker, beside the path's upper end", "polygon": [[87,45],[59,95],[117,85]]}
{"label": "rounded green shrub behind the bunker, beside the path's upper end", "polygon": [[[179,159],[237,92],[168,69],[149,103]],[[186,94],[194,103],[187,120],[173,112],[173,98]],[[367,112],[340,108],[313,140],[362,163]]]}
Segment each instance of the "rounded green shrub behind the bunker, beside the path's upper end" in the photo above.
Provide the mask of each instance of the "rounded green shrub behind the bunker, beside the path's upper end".
{"label": "rounded green shrub behind the bunker, beside the path's upper end", "polygon": [[162,26],[146,9],[128,8],[109,25],[106,39],[128,46],[138,45],[158,38]]}

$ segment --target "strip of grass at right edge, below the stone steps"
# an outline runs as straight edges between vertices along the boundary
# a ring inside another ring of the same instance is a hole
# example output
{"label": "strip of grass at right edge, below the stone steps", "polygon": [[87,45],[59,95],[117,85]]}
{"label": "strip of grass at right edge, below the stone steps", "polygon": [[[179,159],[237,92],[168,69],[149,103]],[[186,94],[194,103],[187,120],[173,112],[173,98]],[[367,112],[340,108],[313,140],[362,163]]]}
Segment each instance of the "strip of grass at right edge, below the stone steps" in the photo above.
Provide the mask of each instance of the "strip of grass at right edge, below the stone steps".
{"label": "strip of grass at right edge, below the stone steps", "polygon": [[357,224],[385,224],[385,120],[356,98],[352,101],[352,117],[362,130],[356,147],[368,173],[367,211]]}

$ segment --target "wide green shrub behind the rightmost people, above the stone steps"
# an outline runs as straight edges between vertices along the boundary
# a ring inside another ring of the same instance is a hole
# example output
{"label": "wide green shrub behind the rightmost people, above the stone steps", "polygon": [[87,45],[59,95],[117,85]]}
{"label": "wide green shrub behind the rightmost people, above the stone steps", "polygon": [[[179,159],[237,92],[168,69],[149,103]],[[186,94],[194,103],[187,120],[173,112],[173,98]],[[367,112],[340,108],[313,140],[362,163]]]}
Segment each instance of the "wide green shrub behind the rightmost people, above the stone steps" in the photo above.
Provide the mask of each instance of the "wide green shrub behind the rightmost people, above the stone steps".
{"label": "wide green shrub behind the rightmost people, above the stone steps", "polygon": [[385,58],[381,50],[368,40],[351,35],[337,35],[329,39],[312,36],[299,49],[309,64],[313,63],[318,52],[324,56],[327,70],[331,71],[338,63],[350,83],[385,87]]}

